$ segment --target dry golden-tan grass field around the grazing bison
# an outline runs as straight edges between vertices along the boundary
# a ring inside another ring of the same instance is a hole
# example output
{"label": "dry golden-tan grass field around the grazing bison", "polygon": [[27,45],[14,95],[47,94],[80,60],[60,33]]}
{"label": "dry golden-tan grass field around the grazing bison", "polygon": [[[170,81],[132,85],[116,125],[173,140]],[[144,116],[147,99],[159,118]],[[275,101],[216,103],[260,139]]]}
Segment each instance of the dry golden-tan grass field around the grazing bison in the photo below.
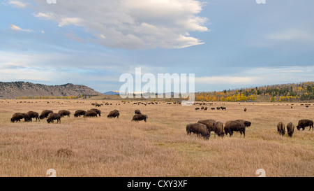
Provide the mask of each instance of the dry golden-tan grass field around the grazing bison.
{"label": "dry golden-tan grass field around the grazing bison", "polygon": [[[0,100],[0,176],[314,176],[314,132],[294,130],[280,136],[276,125],[300,119],[314,120],[314,106],[300,103],[223,103],[226,111],[195,111],[178,104],[133,105],[108,101],[98,118],[74,118],[76,110],[95,108],[103,100]],[[18,102],[18,103],[17,103]],[[83,103],[84,102],[84,103]],[[104,102],[107,102],[106,100]],[[119,103],[120,105],[116,105]],[[211,108],[211,106],[207,106]],[[248,111],[244,112],[244,108]],[[13,113],[50,109],[71,111],[61,124],[10,122]],[[117,109],[119,118],[107,113]],[[147,122],[131,122],[135,109]],[[246,137],[234,132],[208,141],[186,134],[186,125],[198,120],[244,119],[252,122]]]}

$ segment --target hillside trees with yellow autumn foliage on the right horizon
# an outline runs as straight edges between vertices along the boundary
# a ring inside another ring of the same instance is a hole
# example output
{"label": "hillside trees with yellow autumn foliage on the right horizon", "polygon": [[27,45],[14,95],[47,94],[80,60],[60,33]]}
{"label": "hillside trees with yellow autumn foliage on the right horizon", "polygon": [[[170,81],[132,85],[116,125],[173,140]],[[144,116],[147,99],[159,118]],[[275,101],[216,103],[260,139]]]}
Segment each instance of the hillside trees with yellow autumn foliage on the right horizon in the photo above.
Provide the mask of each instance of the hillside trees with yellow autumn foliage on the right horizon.
{"label": "hillside trees with yellow autumn foliage on the right horizon", "polygon": [[267,85],[221,92],[197,92],[196,101],[305,101],[314,99],[314,82]]}

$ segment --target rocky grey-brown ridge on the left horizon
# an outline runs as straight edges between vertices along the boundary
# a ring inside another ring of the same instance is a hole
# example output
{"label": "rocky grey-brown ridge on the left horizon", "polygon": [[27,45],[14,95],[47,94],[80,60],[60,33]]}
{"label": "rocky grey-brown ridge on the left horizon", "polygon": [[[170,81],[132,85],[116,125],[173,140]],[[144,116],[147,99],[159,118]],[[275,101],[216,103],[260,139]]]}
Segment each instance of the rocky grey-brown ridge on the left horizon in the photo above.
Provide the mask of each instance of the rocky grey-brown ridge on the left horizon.
{"label": "rocky grey-brown ridge on the left horizon", "polygon": [[91,87],[85,85],[74,85],[67,83],[64,85],[43,85],[29,82],[0,82],[0,99],[15,99],[17,97],[37,97],[37,96],[79,96],[79,95],[101,95]]}

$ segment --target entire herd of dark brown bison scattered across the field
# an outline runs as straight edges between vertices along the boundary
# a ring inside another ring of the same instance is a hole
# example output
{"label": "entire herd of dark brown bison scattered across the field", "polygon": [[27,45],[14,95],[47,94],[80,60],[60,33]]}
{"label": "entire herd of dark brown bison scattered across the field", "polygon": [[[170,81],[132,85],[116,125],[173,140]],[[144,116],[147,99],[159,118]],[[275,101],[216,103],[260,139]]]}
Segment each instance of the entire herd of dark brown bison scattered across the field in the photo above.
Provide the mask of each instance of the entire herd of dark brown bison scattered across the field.
{"label": "entire herd of dark brown bison scattered across the field", "polygon": [[[92,104],[93,105],[93,104]],[[102,105],[102,104],[101,104]],[[106,104],[107,105],[107,104]],[[94,104],[94,106],[97,106]],[[224,106],[211,108],[211,110],[226,110]],[[207,110],[207,107],[202,106],[201,108],[195,108],[195,110]],[[244,109],[246,111],[246,108]],[[11,122],[20,122],[24,119],[24,122],[31,122],[33,119],[37,121],[43,120],[47,118],[47,123],[54,123],[55,120],[57,120],[57,123],[61,123],[61,118],[67,116],[70,117],[72,113],[67,110],[60,110],[58,113],[54,113],[52,110],[44,110],[40,113],[37,113],[35,111],[29,111],[27,113],[14,113],[12,118],[10,119]],[[84,110],[77,110],[73,114],[75,118],[78,118],[80,116],[83,116],[84,118],[91,118],[91,117],[100,117],[101,111],[96,108],[91,108],[90,110],[84,111]],[[107,118],[119,118],[119,111],[117,109],[114,109],[113,111],[110,111],[107,115]],[[141,121],[147,122],[147,115],[144,115],[141,113],[140,110],[135,110],[135,115],[133,115],[133,118],[131,121]],[[246,127],[251,127],[251,122],[247,120],[228,120],[223,124],[223,122],[216,121],[216,120],[199,120],[196,123],[191,123],[186,125],[186,133],[188,135],[190,134],[197,134],[197,136],[202,136],[204,139],[208,140],[211,132],[214,132],[214,135],[216,136],[232,136],[234,132],[240,132],[240,134],[245,137],[246,136]],[[298,130],[302,129],[304,130],[305,127],[310,127],[309,130],[313,130],[313,120],[299,120],[298,125],[296,126]],[[292,137],[292,134],[294,133],[295,126],[292,122],[287,123],[287,126],[285,126],[284,122],[278,122],[277,125],[277,132],[281,136],[284,136],[287,132],[287,135]]]}

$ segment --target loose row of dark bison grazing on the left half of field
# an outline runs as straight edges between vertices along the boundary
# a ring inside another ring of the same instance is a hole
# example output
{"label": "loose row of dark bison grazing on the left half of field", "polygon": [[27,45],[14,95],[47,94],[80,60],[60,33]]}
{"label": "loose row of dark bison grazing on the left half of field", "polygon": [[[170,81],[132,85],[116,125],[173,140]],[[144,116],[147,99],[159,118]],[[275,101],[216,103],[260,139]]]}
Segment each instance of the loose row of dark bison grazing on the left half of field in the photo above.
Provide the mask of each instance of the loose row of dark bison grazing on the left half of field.
{"label": "loose row of dark bison grazing on the left half of field", "polygon": [[[54,123],[54,120],[57,120],[57,123],[61,123],[61,118],[64,116],[70,117],[70,111],[66,110],[60,110],[58,113],[54,113],[51,110],[44,110],[40,113],[37,113],[35,111],[29,111],[27,113],[14,113],[12,118],[10,119],[11,122],[20,122],[22,119],[24,119],[24,122],[31,122],[32,118],[36,118],[36,121],[43,120],[47,118],[47,123]],[[107,115],[107,118],[119,118],[119,111],[117,109],[114,109],[113,111],[110,111],[110,113]],[[78,118],[80,116],[83,116],[84,118],[91,118],[91,117],[100,117],[101,111],[96,108],[91,108],[90,110],[84,111],[84,110],[77,110],[74,113],[74,117]],[[140,110],[135,110],[135,115],[133,116],[131,121],[140,121],[144,120],[144,122],[147,122],[147,115],[143,115]]]}

